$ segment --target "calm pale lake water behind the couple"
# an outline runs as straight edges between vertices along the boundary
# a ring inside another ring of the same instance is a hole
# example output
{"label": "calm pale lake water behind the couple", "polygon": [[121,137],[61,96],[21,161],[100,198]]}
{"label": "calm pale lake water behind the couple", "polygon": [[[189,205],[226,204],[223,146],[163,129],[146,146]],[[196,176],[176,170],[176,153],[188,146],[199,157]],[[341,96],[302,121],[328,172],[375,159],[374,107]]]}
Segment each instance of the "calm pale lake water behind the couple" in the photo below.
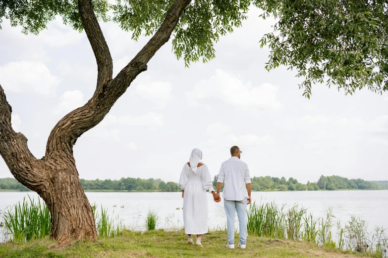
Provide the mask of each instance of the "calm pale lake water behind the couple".
{"label": "calm pale lake water behind the couple", "polygon": [[[34,192],[0,192],[0,210],[22,201],[23,197],[38,198]],[[181,227],[183,225],[183,199],[175,193],[86,193],[93,204],[108,209],[111,215],[118,215],[124,225],[132,229],[143,229],[148,210],[159,215],[159,228]],[[252,192],[256,203],[275,201],[278,205],[295,203],[308,209],[314,216],[326,215],[329,208],[342,222],[351,215],[364,218],[369,229],[375,226],[388,227],[388,191],[303,191],[303,192]],[[115,208],[113,206],[116,205]],[[208,194],[209,227],[224,227],[226,215],[223,201],[215,203]],[[120,208],[124,206],[124,208]],[[180,210],[177,210],[180,208]],[[101,208],[99,208],[101,209]],[[0,219],[1,220],[1,219]]]}

